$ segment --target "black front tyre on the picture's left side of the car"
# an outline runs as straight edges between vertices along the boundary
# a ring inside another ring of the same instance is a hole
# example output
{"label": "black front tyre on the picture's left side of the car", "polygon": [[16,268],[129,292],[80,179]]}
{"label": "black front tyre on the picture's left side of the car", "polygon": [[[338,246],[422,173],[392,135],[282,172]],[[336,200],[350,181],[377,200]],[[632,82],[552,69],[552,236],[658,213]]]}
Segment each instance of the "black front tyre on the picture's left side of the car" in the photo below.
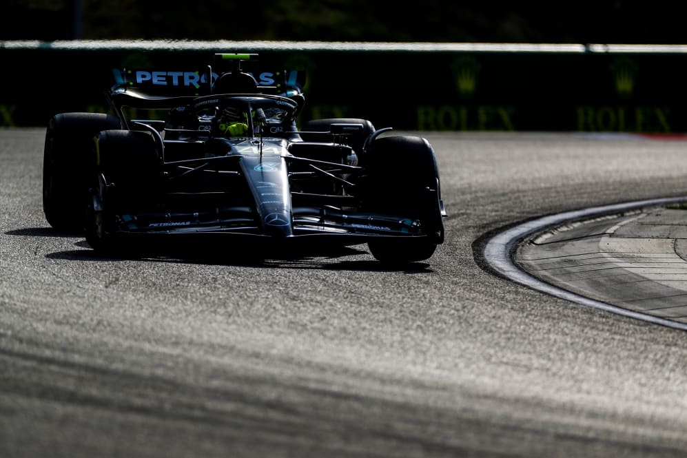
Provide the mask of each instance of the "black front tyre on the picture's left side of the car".
{"label": "black front tyre on the picture's left side of the car", "polygon": [[[160,196],[162,155],[148,132],[100,132],[94,150],[95,170],[86,209],[85,237],[92,249],[129,254],[119,233],[131,213],[155,205]],[[124,229],[125,230],[125,229]]]}

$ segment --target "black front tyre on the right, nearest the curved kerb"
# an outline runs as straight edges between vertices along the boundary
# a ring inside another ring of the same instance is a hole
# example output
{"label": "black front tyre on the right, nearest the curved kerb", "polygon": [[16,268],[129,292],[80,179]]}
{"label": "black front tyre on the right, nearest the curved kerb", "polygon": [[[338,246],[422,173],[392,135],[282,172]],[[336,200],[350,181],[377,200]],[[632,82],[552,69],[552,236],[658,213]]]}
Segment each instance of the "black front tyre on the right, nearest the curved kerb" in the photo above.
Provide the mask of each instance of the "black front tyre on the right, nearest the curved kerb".
{"label": "black front tyre on the right, nearest the curved kerb", "polygon": [[365,207],[373,213],[409,215],[424,236],[380,238],[368,247],[377,260],[392,264],[431,258],[444,241],[439,171],[433,147],[416,136],[377,138],[369,148]]}

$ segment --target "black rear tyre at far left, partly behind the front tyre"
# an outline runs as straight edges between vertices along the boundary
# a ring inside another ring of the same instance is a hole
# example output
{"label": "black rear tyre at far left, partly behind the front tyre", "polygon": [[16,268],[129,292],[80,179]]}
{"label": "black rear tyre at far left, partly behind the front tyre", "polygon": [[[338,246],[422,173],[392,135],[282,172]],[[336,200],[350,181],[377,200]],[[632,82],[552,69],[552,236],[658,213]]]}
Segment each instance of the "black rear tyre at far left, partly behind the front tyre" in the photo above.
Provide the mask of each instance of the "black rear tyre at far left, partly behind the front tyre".
{"label": "black rear tyre at far left, partly behind the front tyre", "polygon": [[83,231],[93,138],[120,127],[119,118],[103,113],[61,113],[50,119],[43,149],[43,213],[54,229]]}

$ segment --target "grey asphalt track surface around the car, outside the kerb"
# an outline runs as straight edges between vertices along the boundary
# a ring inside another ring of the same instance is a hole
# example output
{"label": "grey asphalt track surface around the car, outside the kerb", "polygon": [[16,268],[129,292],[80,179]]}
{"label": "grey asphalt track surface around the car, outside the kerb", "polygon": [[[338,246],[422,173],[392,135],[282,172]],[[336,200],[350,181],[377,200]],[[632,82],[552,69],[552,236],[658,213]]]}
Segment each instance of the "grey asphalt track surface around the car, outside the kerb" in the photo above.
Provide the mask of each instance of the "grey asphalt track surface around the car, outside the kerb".
{"label": "grey asphalt track surface around the car, outside the kerb", "polygon": [[423,133],[447,241],[263,263],[112,260],[41,208],[43,129],[0,130],[0,457],[685,457],[687,331],[542,293],[498,233],[687,194],[687,143]]}

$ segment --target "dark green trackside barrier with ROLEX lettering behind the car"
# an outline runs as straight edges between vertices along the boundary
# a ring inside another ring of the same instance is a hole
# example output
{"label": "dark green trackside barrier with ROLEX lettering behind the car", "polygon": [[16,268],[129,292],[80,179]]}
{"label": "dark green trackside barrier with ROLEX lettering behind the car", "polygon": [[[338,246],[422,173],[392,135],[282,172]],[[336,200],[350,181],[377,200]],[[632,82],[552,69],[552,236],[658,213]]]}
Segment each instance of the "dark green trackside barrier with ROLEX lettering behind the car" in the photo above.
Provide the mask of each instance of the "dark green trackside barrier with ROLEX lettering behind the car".
{"label": "dark green trackside barrier with ROLEX lettering behind the car", "polygon": [[269,41],[0,41],[0,126],[106,111],[113,67],[305,70],[301,118],[418,131],[687,132],[687,46]]}

